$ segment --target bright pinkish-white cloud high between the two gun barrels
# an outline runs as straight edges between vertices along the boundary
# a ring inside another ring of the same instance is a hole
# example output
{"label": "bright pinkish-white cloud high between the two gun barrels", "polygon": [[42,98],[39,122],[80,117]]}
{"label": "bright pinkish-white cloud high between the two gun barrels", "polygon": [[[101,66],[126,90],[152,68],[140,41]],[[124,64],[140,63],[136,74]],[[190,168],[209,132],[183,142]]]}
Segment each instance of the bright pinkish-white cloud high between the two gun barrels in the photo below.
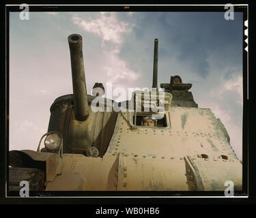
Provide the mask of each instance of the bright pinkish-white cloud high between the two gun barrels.
{"label": "bright pinkish-white cloud high between the two gun barrels", "polygon": [[[103,72],[106,72],[106,82],[112,82],[113,87],[128,88],[129,82],[131,85],[141,76],[139,72],[130,69],[126,62],[119,57],[123,35],[132,31],[133,26],[130,23],[118,20],[113,12],[101,12],[98,18],[81,18],[74,15],[72,21],[84,31],[100,37],[105,63],[102,69]],[[102,61],[100,62],[102,63]]]}

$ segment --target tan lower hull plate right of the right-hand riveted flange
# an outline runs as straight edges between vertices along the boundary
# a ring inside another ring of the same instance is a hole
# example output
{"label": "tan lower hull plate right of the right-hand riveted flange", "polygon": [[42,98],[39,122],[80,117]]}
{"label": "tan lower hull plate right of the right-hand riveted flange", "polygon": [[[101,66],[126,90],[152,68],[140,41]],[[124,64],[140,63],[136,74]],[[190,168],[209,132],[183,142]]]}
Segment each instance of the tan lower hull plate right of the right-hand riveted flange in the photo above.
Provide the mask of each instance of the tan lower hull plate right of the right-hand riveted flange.
{"label": "tan lower hull plate right of the right-hand riveted flange", "polygon": [[232,181],[235,191],[242,190],[242,164],[222,157],[192,158],[187,156],[188,186],[197,191],[225,191],[226,181]]}

